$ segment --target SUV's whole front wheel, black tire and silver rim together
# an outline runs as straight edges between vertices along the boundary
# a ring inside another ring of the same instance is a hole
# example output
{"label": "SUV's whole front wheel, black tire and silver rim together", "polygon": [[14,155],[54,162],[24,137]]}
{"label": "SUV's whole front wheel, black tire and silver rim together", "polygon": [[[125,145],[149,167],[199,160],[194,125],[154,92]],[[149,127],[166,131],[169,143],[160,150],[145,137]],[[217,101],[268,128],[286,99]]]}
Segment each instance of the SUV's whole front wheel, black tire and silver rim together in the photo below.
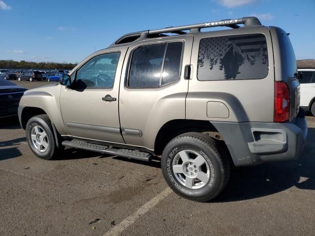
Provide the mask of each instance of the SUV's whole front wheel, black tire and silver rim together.
{"label": "SUV's whole front wheel, black tire and silver rim together", "polygon": [[26,124],[26,140],[32,152],[39,158],[50,160],[59,152],[53,127],[47,115],[32,117]]}

